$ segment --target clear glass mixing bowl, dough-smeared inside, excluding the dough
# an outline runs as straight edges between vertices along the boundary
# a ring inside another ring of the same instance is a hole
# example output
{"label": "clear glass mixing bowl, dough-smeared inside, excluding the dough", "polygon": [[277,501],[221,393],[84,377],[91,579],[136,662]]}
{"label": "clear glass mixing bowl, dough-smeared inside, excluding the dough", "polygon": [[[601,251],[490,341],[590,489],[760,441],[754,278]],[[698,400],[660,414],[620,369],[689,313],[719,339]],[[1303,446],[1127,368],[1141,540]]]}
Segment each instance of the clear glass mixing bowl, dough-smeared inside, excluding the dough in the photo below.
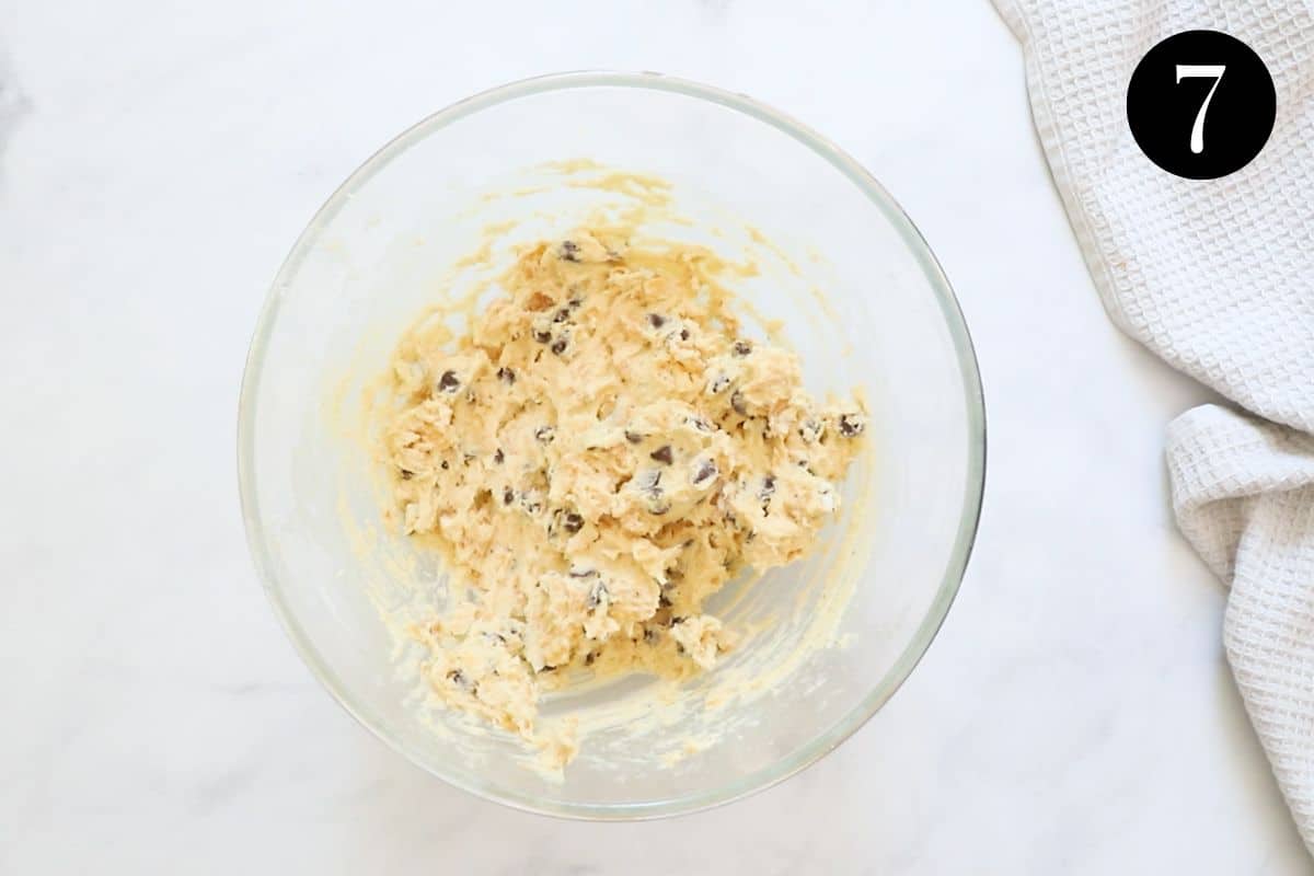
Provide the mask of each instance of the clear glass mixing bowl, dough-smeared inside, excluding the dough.
{"label": "clear glass mixing bowl, dough-smeared inside, excluding the dough", "polygon": [[[678,690],[631,678],[551,697],[549,718],[578,714],[594,728],[577,759],[552,776],[527,768],[511,737],[418,700],[413,658],[384,617],[403,613],[417,592],[440,594],[443,577],[381,524],[361,398],[426,305],[480,278],[487,260],[463,256],[490,239],[490,226],[498,243],[515,238],[507,229],[518,221],[520,234],[564,234],[586,209],[643,201],[645,192],[608,167],[670,183],[657,190],[685,219],[666,222],[665,232],[752,259],[756,269],[742,272],[737,292],[763,324],[779,320],[808,387],[859,386],[871,418],[842,516],[817,550],[752,587],[728,587],[711,607],[732,629],[758,632],[724,666]],[[748,97],[614,72],[545,76],[470,97],[352,173],[275,280],[247,360],[238,432],[242,510],[260,578],[297,650],[343,708],[453,785],[600,820],[748,795],[817,760],[870,718],[912,672],[954,599],[986,456],[967,328],[894,198],[833,144]]]}

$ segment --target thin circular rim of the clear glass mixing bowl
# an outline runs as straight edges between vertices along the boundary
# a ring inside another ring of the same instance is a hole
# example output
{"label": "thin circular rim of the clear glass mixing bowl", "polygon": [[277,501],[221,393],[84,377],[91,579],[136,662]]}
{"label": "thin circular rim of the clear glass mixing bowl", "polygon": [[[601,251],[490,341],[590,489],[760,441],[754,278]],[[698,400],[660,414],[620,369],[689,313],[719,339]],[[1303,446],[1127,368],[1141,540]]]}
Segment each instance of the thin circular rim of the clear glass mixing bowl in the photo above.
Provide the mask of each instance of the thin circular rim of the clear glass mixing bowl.
{"label": "thin circular rim of the clear glass mixing bowl", "polygon": [[[572,88],[640,88],[650,91],[673,92],[686,97],[719,104],[727,109],[744,113],[761,121],[787,137],[811,148],[821,159],[840,171],[853,185],[867,196],[879,208],[891,225],[900,232],[904,243],[916,256],[932,289],[936,292],[946,328],[954,343],[958,357],[959,374],[963,381],[963,401],[967,412],[967,471],[964,478],[964,491],[962,496],[962,510],[959,514],[958,531],[954,545],[941,578],[936,598],[926,615],[922,617],[916,632],[904,647],[899,659],[891,666],[886,675],[874,686],[854,708],[836,721],[829,729],[817,734],[807,745],[791,751],[788,755],[774,762],[771,766],[740,776],[732,783],[727,783],[710,791],[670,797],[665,800],[652,800],[625,804],[578,804],[558,800],[540,800],[533,795],[516,793],[506,788],[481,785],[477,781],[465,780],[464,776],[442,772],[434,764],[422,760],[410,751],[389,730],[386,721],[373,714],[364,705],[356,703],[342,679],[319,658],[319,650],[310,637],[300,626],[289,607],[283,602],[275,575],[272,558],[265,550],[264,528],[260,519],[260,508],[256,499],[254,479],[255,454],[255,398],[259,393],[264,352],[268,345],[273,326],[279,318],[283,290],[286,280],[301,267],[311,242],[321,230],[338,214],[342,206],[351,198],[353,190],[368,183],[377,172],[396,156],[405,152],[411,144],[428,137],[448,125],[457,122],[482,109],[505,104],[520,97],[530,97],[552,91]],[[976,361],[976,352],[971,334],[962,314],[958,298],[954,296],[949,278],[945,276],[934,253],[913,225],[908,214],[876,181],[876,179],[863,168],[850,155],[844,152],[834,143],[821,137],[811,127],[794,120],[792,117],[767,106],[742,93],[736,93],[706,85],[698,81],[668,76],[657,72],[622,72],[610,70],[585,70],[572,72],[547,74],[530,79],[520,79],[505,85],[490,88],[460,100],[445,109],[420,120],[410,126],[378,151],[371,155],[339,185],[327,201],[315,211],[305,230],[293,243],[286,259],[284,259],[273,284],[265,297],[264,306],[256,320],[251,345],[247,352],[246,365],[242,376],[242,389],[238,399],[238,489],[240,493],[242,517],[247,535],[247,545],[255,562],[260,583],[279,617],[284,632],[288,634],[301,659],[310,668],[311,674],[328,691],[336,703],[352,716],[361,726],[368,729],[386,746],[401,754],[403,758],[417,764],[426,772],[442,779],[447,784],[461,788],[484,800],[503,804],[512,809],[532,812],[547,816],[586,821],[640,821],[662,818],[677,814],[689,814],[711,809],[719,805],[744,799],[759,791],[765,791],[790,776],[800,772],[816,763],[823,756],[833,751],[845,739],[853,735],[871,716],[880,711],[886,703],[903,686],[907,678],[916,668],[922,655],[930,647],[936,634],[940,632],[954,598],[962,584],[963,575],[971,558],[972,546],[980,520],[982,502],[986,487],[986,399],[980,381],[980,370]]]}

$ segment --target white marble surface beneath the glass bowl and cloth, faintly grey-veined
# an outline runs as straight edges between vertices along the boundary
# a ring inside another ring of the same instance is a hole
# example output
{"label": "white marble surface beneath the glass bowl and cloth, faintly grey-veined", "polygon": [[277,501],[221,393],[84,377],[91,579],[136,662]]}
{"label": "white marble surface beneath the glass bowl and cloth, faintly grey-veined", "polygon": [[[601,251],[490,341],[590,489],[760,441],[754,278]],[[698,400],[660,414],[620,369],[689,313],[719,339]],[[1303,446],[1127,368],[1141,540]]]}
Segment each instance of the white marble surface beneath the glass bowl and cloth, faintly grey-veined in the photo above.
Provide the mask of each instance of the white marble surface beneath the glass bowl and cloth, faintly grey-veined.
{"label": "white marble surface beneath the glass bowl and cloth, faintly grey-veined", "polygon": [[[4,54],[0,872],[1309,868],[1166,506],[1164,423],[1205,393],[1100,310],[986,0],[7,0]],[[958,289],[991,427],[904,690],[786,784],[640,825],[503,810],[352,724],[265,605],[234,471],[248,334],[327,193],[436,108],[583,67],[748,92],[870,167]]]}

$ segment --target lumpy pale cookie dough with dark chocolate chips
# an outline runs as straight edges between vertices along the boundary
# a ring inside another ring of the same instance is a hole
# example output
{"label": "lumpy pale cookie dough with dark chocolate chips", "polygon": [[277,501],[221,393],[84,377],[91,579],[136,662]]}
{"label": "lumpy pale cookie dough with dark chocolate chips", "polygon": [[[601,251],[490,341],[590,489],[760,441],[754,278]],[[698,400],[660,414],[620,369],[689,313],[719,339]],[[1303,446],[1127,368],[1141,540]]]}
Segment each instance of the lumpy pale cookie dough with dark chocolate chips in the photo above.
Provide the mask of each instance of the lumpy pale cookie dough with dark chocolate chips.
{"label": "lumpy pale cookie dough with dark chocolate chips", "polygon": [[857,399],[819,405],[796,357],[740,335],[720,263],[581,230],[526,251],[453,335],[399,344],[384,433],[406,533],[448,605],[411,633],[447,704],[573,756],[536,726],[582,676],[685,678],[736,645],[704,600],[802,557],[858,450]]}

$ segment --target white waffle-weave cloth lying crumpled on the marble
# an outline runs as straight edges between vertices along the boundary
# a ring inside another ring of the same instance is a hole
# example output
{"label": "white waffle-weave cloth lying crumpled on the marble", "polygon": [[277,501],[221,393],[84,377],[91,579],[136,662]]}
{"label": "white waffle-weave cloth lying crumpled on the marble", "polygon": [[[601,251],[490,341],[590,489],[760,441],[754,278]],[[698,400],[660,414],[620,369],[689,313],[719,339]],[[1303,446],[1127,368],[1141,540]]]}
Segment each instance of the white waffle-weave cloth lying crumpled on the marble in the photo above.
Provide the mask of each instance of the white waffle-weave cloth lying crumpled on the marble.
{"label": "white waffle-weave cloth lying crumpled on the marble", "polygon": [[[1231,590],[1223,646],[1314,851],[1314,1],[995,0],[1022,42],[1035,129],[1110,318],[1247,412],[1168,427],[1177,524]],[[1147,159],[1137,62],[1183,30],[1263,58],[1277,121],[1218,180]]]}

